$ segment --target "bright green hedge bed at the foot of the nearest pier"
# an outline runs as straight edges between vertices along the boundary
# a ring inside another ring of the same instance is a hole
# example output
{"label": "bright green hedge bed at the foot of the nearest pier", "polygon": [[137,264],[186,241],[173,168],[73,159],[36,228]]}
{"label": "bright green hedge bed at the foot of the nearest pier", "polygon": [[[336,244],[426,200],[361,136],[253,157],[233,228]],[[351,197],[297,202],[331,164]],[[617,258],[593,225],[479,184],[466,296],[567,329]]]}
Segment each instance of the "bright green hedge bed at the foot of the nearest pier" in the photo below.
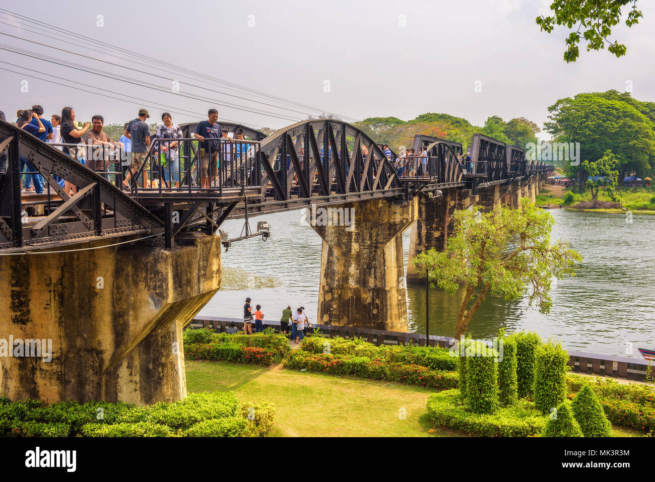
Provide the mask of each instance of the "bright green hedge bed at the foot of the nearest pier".
{"label": "bright green hedge bed at the foot of the nearest pier", "polygon": [[[248,408],[252,409],[248,410]],[[198,393],[149,407],[132,403],[64,401],[11,402],[0,398],[3,437],[253,437],[272,426],[271,403],[246,404],[238,411],[232,392]]]}

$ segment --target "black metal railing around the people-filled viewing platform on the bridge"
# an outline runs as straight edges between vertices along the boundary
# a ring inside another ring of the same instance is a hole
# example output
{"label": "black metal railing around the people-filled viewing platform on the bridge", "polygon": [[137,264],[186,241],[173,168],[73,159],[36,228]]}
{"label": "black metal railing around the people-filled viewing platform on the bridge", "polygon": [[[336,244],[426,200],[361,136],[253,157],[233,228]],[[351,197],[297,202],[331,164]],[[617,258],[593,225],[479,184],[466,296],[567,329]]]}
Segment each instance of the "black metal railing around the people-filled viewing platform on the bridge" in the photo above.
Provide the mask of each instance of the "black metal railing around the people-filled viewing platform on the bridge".
{"label": "black metal railing around the people-filled viewing platform on the bridge", "polygon": [[[155,138],[129,179],[133,196],[260,187],[261,143],[241,139]],[[134,156],[134,154],[133,154]],[[145,179],[143,174],[145,173]],[[137,181],[135,181],[137,179]],[[156,182],[154,182],[156,181]],[[144,185],[145,183],[145,185]]]}

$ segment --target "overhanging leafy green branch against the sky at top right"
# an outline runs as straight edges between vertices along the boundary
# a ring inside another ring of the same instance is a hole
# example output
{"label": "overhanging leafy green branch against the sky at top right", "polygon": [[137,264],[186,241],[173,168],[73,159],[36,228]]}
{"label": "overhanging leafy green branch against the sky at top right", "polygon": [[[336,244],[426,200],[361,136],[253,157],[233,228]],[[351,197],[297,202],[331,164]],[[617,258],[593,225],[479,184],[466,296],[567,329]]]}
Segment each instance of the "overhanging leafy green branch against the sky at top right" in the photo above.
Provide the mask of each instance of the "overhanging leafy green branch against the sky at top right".
{"label": "overhanging leafy green branch against the sky at top right", "polygon": [[[626,25],[631,27],[643,17],[641,11],[637,10],[637,0],[554,0],[550,9],[555,15],[538,16],[536,24],[548,33],[553,31],[555,24],[571,30],[566,39],[567,51],[564,52],[564,60],[567,63],[575,62],[580,55],[578,43],[582,28],[582,35],[587,41],[587,51],[602,50],[607,42],[607,50],[620,57],[626,54],[626,46],[618,41],[612,42],[607,37],[612,34],[612,27],[620,21],[621,8],[629,4],[632,9],[627,14]],[[576,25],[578,28],[572,31]]]}

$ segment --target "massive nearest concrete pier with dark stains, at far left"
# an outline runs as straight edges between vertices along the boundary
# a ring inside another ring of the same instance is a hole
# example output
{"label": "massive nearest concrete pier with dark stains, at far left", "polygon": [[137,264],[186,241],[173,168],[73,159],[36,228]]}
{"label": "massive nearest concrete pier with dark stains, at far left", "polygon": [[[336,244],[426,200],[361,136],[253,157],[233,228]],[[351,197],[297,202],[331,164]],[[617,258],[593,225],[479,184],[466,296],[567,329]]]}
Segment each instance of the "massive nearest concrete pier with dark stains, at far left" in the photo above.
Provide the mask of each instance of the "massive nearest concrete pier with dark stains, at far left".
{"label": "massive nearest concrete pier with dark stains, at far left", "polygon": [[220,238],[186,243],[1,257],[0,337],[49,340],[52,360],[1,356],[0,394],[45,403],[184,398],[181,330],[221,286]]}

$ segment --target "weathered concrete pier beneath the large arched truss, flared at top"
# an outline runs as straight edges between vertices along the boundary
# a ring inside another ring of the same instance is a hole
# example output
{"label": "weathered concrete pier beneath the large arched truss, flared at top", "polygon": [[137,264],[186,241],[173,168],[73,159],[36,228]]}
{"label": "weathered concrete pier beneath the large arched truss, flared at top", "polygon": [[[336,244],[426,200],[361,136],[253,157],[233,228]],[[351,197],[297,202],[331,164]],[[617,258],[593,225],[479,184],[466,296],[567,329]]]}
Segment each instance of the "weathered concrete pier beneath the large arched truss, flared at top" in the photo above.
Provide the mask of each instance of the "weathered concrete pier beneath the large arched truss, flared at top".
{"label": "weathered concrete pier beneath the large arched truss, flared at top", "polygon": [[[407,331],[402,233],[417,206],[416,198],[367,199],[329,206],[327,223],[312,219],[323,238],[319,323]],[[338,222],[341,209],[352,213],[350,226]]]}

